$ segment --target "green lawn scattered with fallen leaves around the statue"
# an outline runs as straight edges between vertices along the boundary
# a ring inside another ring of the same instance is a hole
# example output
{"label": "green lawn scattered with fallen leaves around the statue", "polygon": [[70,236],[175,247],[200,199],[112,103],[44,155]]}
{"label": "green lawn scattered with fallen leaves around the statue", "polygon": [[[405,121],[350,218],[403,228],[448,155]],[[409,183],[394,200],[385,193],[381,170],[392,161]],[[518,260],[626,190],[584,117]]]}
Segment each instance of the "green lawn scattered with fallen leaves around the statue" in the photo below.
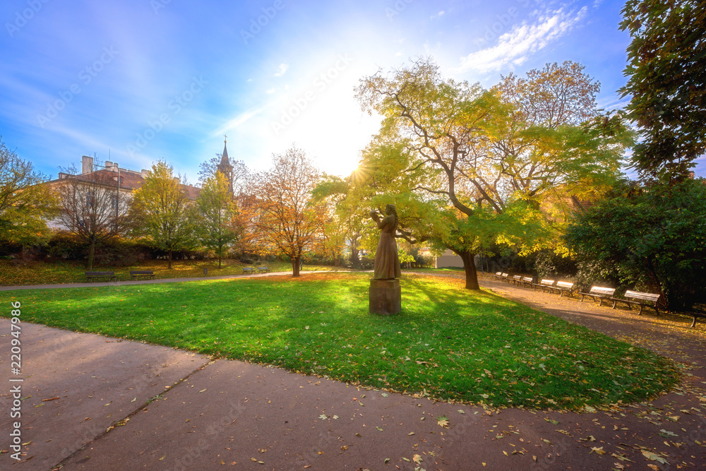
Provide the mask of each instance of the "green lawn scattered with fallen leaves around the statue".
{"label": "green lawn scattered with fallen leaves around the statue", "polygon": [[[402,278],[402,313],[368,314],[369,275],[6,292],[23,321],[493,406],[651,398],[676,365],[462,280]],[[6,310],[2,315],[6,316]]]}

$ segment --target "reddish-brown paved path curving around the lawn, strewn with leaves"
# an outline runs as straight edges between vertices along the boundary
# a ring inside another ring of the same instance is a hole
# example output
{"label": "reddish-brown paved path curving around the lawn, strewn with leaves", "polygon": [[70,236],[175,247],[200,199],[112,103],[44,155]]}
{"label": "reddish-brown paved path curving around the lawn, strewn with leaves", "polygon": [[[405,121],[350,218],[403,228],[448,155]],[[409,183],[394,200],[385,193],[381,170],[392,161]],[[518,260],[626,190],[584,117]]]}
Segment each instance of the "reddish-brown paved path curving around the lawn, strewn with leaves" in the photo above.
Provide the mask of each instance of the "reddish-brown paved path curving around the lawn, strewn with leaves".
{"label": "reddish-brown paved path curving around the lawn, strewn with leaves", "polygon": [[[684,320],[636,316],[486,279],[481,283],[673,357],[688,376],[681,388],[620,410],[486,410],[23,323],[27,376],[21,383],[23,455],[16,463],[10,449],[16,419],[9,417],[13,398],[7,391],[17,383],[8,381],[13,377],[11,327],[1,318],[0,364],[6,379],[0,390],[0,448],[9,452],[0,455],[0,469],[706,467],[702,324],[689,329]],[[448,427],[439,426],[441,415],[448,417]]]}

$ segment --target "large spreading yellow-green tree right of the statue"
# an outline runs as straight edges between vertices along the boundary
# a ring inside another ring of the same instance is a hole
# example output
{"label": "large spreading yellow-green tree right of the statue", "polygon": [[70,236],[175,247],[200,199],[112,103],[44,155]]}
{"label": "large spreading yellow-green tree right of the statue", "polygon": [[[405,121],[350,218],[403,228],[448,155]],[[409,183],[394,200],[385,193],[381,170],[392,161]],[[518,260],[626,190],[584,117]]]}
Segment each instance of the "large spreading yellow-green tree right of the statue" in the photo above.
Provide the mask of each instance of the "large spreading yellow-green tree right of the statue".
{"label": "large spreading yellow-green tree right of the statue", "polygon": [[[484,90],[445,80],[430,59],[419,59],[388,76],[364,78],[357,88],[362,107],[385,117],[378,139],[400,143],[411,155],[413,167],[405,172],[433,175],[411,190],[419,201],[443,199],[445,207],[437,205],[443,227],[433,239],[462,258],[468,289],[479,289],[474,255],[491,239],[538,246],[549,191],[580,189],[594,172],[617,172],[629,141],[621,118],[587,109],[593,119],[577,124],[594,92],[572,90],[585,81],[573,83],[575,69],[557,73],[563,68],[572,66],[547,66]],[[522,109],[522,88],[541,102]]]}

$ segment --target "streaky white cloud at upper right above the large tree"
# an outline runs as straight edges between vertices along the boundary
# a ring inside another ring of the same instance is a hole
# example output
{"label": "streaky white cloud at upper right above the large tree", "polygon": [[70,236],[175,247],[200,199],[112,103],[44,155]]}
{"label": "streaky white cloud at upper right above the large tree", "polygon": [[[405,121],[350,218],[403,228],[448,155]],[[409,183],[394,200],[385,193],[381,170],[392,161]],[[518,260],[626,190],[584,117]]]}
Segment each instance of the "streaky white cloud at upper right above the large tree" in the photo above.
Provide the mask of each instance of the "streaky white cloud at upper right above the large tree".
{"label": "streaky white cloud at upper right above the large tree", "polygon": [[550,42],[572,30],[585,17],[586,11],[585,6],[575,14],[573,11],[564,13],[559,9],[539,16],[534,24],[524,21],[522,25],[515,25],[512,30],[501,35],[493,47],[462,57],[455,72],[485,73],[501,70],[505,66],[520,66],[531,54],[544,49]]}

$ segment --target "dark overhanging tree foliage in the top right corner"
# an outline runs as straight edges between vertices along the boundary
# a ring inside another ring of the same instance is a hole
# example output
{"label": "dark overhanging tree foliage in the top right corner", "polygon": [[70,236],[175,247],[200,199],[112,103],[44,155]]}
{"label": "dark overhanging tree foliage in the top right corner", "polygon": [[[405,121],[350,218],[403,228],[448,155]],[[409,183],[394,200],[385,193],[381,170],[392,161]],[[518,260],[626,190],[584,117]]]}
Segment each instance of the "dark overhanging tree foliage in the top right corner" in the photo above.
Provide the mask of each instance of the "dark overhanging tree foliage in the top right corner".
{"label": "dark overhanging tree foliage in the top right corner", "polygon": [[633,166],[646,176],[685,179],[706,150],[706,3],[628,0],[628,112],[640,128]]}

